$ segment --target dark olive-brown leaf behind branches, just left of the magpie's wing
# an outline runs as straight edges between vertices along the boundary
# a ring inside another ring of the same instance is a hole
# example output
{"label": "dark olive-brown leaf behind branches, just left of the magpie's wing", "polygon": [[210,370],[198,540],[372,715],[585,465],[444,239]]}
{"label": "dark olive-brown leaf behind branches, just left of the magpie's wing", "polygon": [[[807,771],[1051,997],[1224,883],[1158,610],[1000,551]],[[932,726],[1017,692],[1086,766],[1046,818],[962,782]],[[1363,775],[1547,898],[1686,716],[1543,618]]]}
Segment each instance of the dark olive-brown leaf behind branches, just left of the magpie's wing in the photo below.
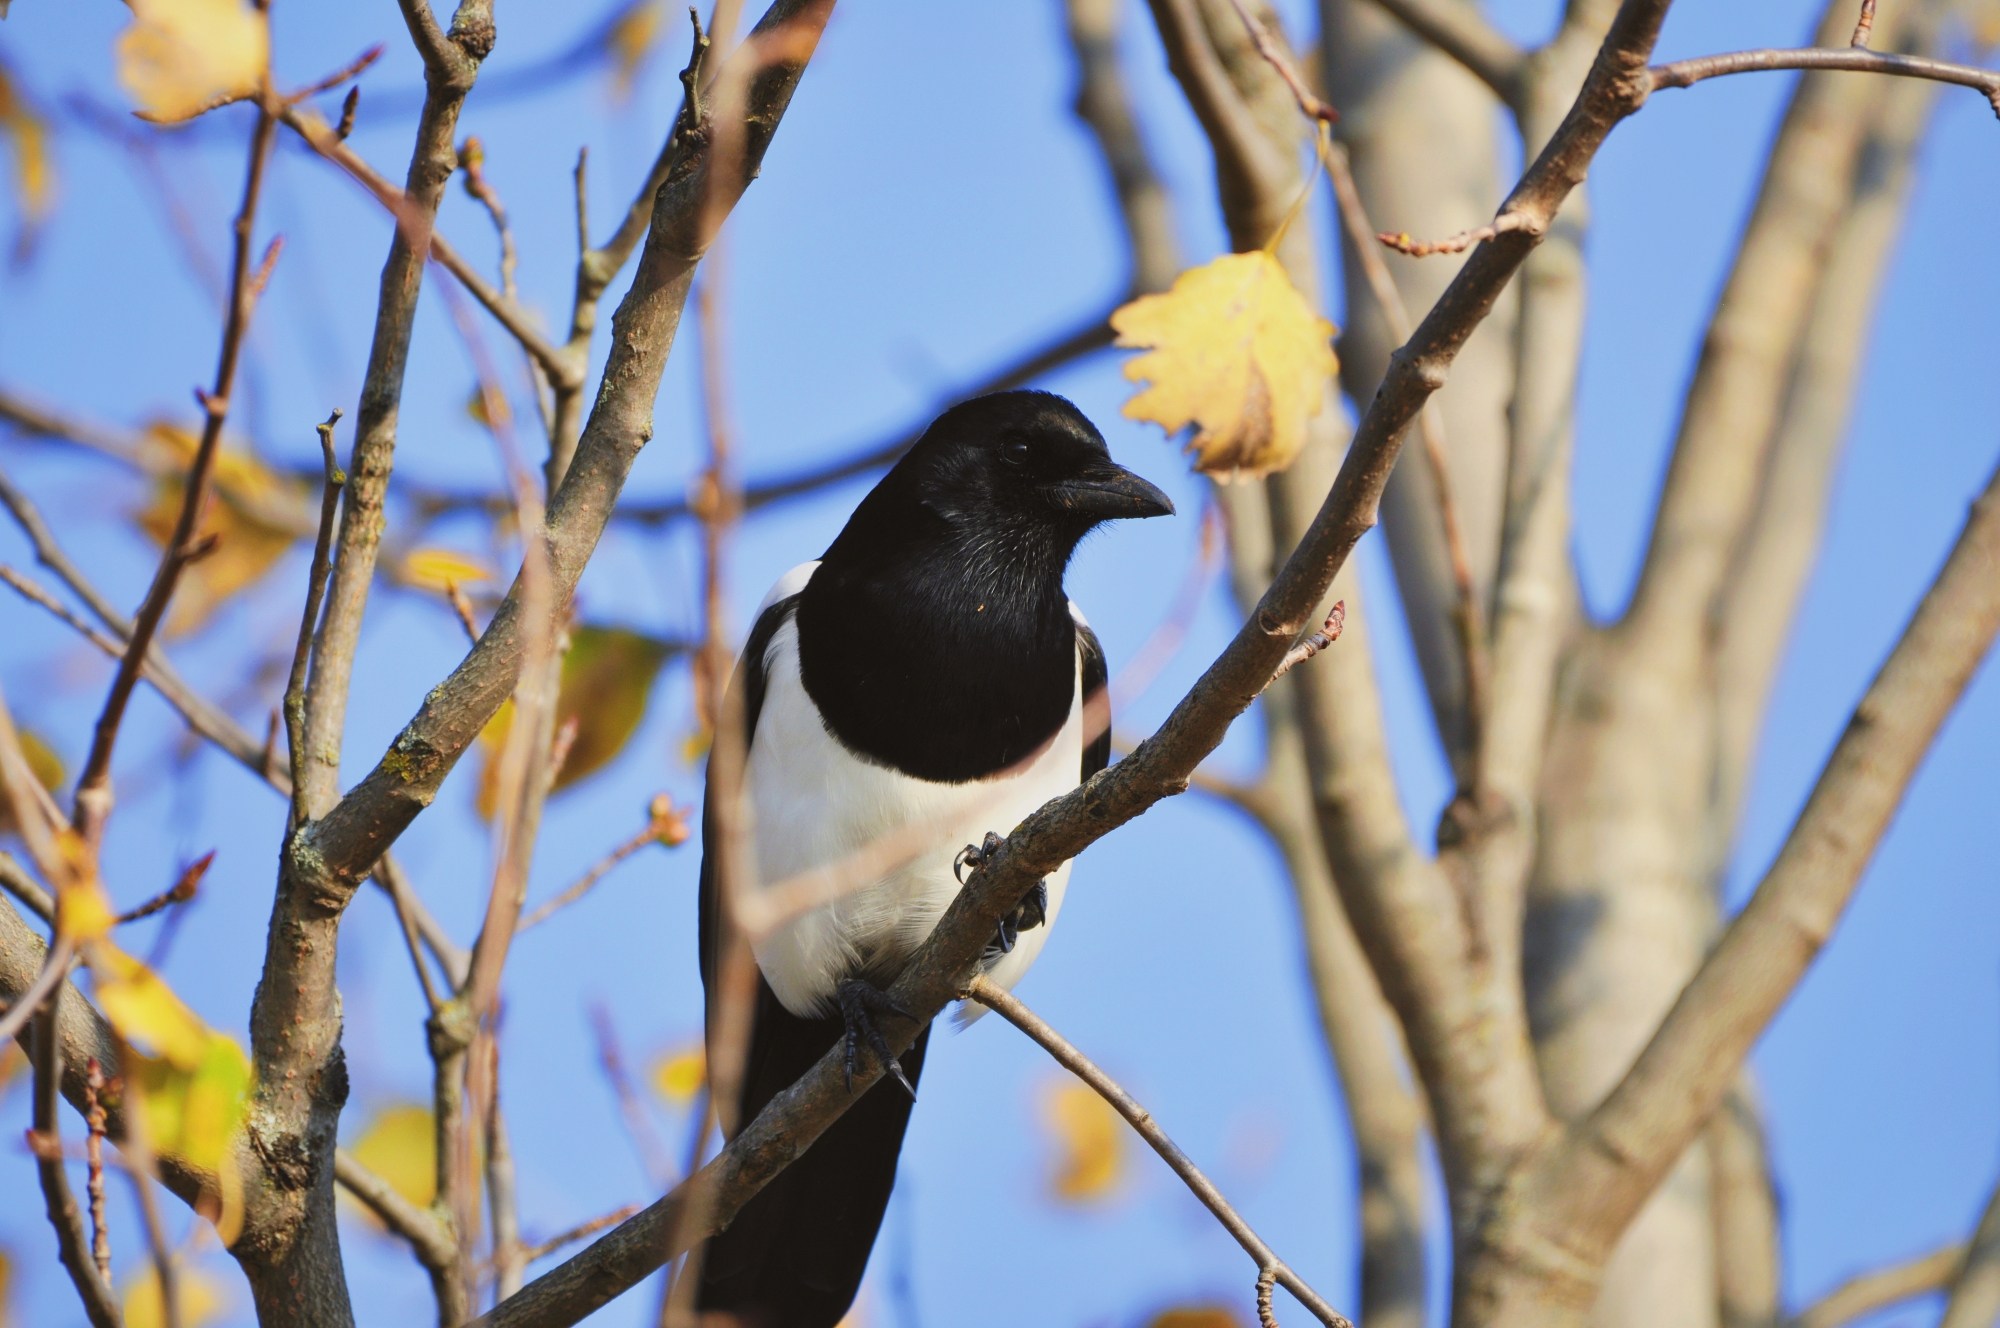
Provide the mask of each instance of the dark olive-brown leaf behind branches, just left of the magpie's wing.
{"label": "dark olive-brown leaf behind branches, just left of the magpie's wing", "polygon": [[[552,788],[562,790],[596,774],[624,750],[646,718],[652,680],[666,662],[668,644],[624,628],[570,628],[562,656],[562,690],[556,694],[556,728],[576,720],[576,738]],[[486,764],[480,772],[478,812],[492,820],[500,796],[500,750],[514,722],[514,702],[494,712],[480,732]]]}

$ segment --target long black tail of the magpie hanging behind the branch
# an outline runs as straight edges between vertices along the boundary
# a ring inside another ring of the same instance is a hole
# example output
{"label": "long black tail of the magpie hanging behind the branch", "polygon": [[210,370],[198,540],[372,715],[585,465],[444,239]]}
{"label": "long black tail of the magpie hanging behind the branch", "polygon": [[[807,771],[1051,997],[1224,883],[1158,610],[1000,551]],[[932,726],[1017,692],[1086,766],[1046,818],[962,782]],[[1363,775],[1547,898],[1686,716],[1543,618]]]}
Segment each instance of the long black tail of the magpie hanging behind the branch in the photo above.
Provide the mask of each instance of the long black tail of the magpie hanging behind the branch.
{"label": "long black tail of the magpie hanging behind the branch", "polygon": [[[802,1020],[758,974],[756,1030],[744,1066],[748,1124],[842,1038],[840,1018]],[[914,1084],[930,1028],[902,1054]],[[834,1328],[854,1304],[882,1210],[896,1186],[896,1154],[910,1098],[876,1082],[792,1166],[764,1186],[702,1254],[702,1310],[734,1314],[744,1328]]]}

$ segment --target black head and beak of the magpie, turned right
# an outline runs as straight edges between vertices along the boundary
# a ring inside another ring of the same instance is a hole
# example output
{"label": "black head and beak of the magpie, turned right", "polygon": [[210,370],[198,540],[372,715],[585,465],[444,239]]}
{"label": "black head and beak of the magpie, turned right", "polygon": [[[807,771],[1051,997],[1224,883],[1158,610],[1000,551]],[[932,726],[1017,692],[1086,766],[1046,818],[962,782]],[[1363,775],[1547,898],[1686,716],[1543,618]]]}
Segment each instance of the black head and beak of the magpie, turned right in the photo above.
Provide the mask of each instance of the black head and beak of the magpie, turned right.
{"label": "black head and beak of the magpie, turned right", "polygon": [[994,392],[938,416],[896,466],[904,492],[970,530],[1046,532],[1068,558],[1108,520],[1172,500],[1112,460],[1104,434],[1052,392]]}

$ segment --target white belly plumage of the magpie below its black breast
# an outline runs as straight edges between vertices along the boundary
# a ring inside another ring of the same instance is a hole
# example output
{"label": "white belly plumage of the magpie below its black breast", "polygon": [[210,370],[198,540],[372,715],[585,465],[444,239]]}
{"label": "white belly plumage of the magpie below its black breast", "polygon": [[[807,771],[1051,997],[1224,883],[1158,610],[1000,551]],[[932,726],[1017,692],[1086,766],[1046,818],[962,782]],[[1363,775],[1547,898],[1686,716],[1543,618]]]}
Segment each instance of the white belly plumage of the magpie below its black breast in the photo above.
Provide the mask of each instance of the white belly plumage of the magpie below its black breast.
{"label": "white belly plumage of the magpie below its black breast", "polygon": [[[958,894],[952,860],[988,830],[1006,836],[1050,798],[1076,788],[1084,754],[1082,702],[1036,758],[1006,778],[932,784],[848,752],[826,732],[798,676],[798,624],[772,636],[764,706],[750,742],[748,794],[762,884],[828,868],[898,836],[900,866],[780,926],[754,946],[758,968],[784,1008],[832,1012],[834,990],[864,970],[894,970],[938,924]],[[1080,678],[1078,678],[1080,682]],[[1078,696],[1082,688],[1078,686]],[[1020,934],[990,972],[1004,988],[1028,972],[1062,908],[1064,862],[1048,878],[1048,926]]]}

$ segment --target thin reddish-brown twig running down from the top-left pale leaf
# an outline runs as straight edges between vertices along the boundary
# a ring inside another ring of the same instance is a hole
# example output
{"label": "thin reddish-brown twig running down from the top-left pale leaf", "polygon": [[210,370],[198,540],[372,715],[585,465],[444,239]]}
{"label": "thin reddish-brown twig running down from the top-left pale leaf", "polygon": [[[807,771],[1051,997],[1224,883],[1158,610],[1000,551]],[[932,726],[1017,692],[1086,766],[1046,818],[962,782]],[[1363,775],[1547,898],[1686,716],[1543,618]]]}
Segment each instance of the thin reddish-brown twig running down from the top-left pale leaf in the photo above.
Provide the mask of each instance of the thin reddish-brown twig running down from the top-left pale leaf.
{"label": "thin reddish-brown twig running down from the top-left pale leaf", "polygon": [[[76,830],[84,842],[96,848],[104,836],[104,820],[110,816],[110,766],[112,746],[118,742],[118,726],[124,722],[132,688],[146,664],[154,632],[166,616],[166,606],[174,598],[180,574],[186,570],[196,548],[196,532],[208,504],[208,488],[214,478],[216,450],[222,446],[222,422],[228,418],[230,390],[236,384],[236,358],[242,350],[244,334],[250,326],[250,312],[256,296],[252,292],[254,274],[250,270],[250,236],[256,224],[256,206],[264,190],[264,164],[270,160],[270,144],[276,136],[276,120],[270,106],[258,104],[256,128],[250,134],[250,168],[244,178],[242,206],[236,210],[236,262],[230,276],[228,320],[222,330],[222,356],[216,366],[214,390],[200,394],[206,420],[202,440],[188,466],[186,492],[180,500],[180,516],[174,518],[174,532],[166,540],[166,552],[154,572],[152,586],[138,614],[132,616],[132,634],[126,642],[124,658],[118,660],[118,674],[112,678],[110,694],[98,716],[96,732],[90,740],[90,758],[76,780]],[[162,1274],[164,1276],[164,1274]]]}

